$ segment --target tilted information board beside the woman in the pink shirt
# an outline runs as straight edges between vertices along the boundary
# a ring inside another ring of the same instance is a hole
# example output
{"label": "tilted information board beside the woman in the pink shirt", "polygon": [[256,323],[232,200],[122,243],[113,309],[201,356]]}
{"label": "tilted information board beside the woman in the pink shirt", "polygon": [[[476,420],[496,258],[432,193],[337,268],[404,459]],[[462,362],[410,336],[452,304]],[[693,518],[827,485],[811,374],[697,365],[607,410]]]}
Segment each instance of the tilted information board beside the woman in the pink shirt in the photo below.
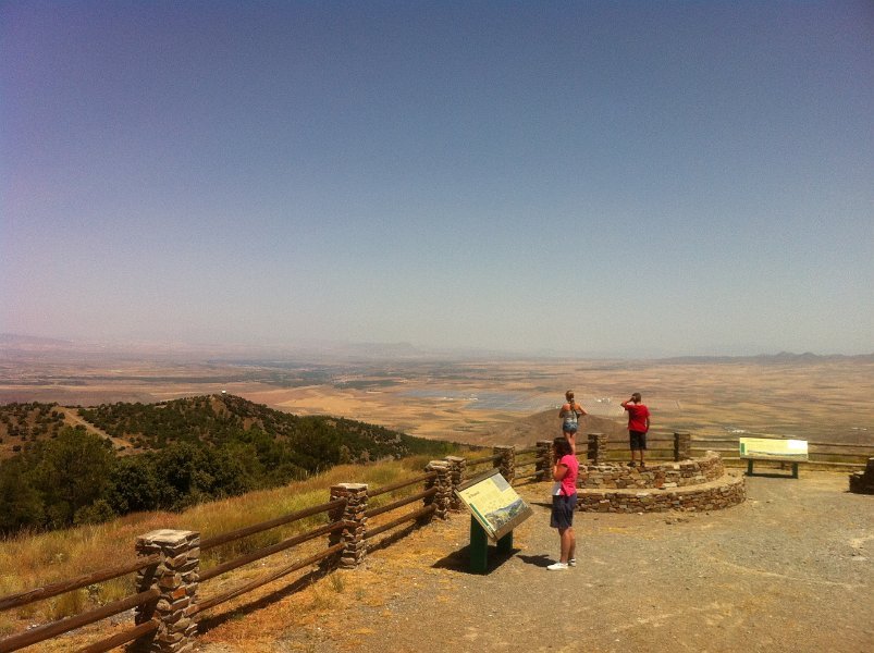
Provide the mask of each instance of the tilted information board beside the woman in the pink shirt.
{"label": "tilted information board beside the woman in the pink shirt", "polygon": [[516,494],[497,469],[461,483],[455,494],[490,540],[500,540],[532,514],[530,506]]}

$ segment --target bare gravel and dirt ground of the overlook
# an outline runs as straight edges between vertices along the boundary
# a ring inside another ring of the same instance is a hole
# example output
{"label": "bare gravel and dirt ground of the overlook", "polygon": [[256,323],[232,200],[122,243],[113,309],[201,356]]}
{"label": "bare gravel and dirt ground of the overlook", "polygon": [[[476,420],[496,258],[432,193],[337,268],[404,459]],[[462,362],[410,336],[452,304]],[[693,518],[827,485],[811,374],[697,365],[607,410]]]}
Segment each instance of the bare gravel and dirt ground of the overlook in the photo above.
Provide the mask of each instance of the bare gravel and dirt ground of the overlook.
{"label": "bare gravel and dirt ground of the overlook", "polygon": [[577,514],[579,565],[549,571],[546,484],[515,551],[468,571],[466,514],[372,551],[361,568],[217,623],[202,653],[874,650],[874,496],[847,475],[752,477],[710,514]]}

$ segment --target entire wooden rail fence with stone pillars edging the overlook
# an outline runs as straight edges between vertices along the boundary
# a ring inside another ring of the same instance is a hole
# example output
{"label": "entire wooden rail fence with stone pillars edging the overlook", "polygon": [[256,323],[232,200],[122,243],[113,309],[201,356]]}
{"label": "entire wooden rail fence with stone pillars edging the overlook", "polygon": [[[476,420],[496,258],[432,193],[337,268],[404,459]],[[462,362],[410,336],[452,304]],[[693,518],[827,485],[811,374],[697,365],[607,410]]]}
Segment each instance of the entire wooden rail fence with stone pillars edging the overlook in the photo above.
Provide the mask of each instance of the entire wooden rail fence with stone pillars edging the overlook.
{"label": "entire wooden rail fence with stone pillars edging the overlook", "polygon": [[[667,446],[668,443],[670,446]],[[727,446],[733,443],[734,446]],[[678,460],[705,449],[719,453],[738,451],[737,439],[693,438],[688,433],[653,433],[648,444],[649,455],[654,459]],[[860,458],[874,454],[874,445],[810,445],[813,463],[825,465],[834,463],[820,459],[825,454],[817,452],[817,447],[846,447]],[[865,453],[858,453],[862,451]],[[577,456],[598,461],[627,458],[627,443],[608,442],[603,434],[591,433],[588,448],[578,445]],[[724,457],[731,459],[730,456]],[[193,531],[158,530],[146,533],[137,539],[139,557],[134,563],[0,597],[0,611],[10,611],[96,583],[137,575],[135,593],[98,608],[9,636],[0,640],[0,653],[45,642],[132,608],[135,609],[135,618],[131,628],[82,646],[78,651],[97,653],[124,644],[137,653],[180,651],[195,637],[197,624],[207,611],[306,568],[315,567],[310,571],[311,577],[336,568],[354,568],[360,564],[369,547],[380,545],[377,541],[380,535],[404,525],[416,527],[434,518],[446,519],[450,510],[460,507],[454,490],[483,469],[497,468],[510,483],[518,484],[549,480],[552,464],[551,441],[540,441],[534,447],[520,449],[496,446],[487,456],[448,456],[445,460],[432,460],[422,476],[392,485],[369,489],[361,483],[341,483],[331,488],[327,503],[202,541],[200,534]],[[846,461],[840,464],[847,465]],[[376,502],[372,501],[374,498]],[[384,503],[386,500],[387,503]],[[419,503],[421,505],[415,505]],[[379,505],[371,507],[371,504]],[[402,508],[406,510],[399,513]],[[238,543],[255,534],[309,518],[324,519],[325,523],[212,567],[201,568],[200,556],[206,551]],[[316,541],[322,538],[327,542],[318,544]],[[305,544],[309,544],[309,549],[305,549]],[[298,554],[293,563],[246,582],[217,587],[211,593],[205,591],[206,588],[212,589],[220,577],[290,550],[296,550]]]}

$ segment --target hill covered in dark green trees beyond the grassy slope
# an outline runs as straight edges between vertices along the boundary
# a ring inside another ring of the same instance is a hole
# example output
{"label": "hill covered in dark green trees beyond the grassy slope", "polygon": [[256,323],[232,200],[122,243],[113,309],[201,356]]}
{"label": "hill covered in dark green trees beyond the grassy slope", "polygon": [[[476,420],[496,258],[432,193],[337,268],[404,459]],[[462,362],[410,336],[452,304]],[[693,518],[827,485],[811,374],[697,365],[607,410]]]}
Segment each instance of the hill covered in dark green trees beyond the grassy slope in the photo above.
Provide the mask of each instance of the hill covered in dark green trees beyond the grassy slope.
{"label": "hill covered in dark green trees beyond the grassy slope", "polygon": [[[14,410],[30,419],[35,410],[45,412],[38,408]],[[120,456],[109,439],[84,426],[26,441],[0,465],[0,533],[181,509],[340,463],[439,458],[453,449],[445,442],[355,420],[298,417],[232,395],[102,405],[78,415],[100,433],[134,443],[138,453]]]}

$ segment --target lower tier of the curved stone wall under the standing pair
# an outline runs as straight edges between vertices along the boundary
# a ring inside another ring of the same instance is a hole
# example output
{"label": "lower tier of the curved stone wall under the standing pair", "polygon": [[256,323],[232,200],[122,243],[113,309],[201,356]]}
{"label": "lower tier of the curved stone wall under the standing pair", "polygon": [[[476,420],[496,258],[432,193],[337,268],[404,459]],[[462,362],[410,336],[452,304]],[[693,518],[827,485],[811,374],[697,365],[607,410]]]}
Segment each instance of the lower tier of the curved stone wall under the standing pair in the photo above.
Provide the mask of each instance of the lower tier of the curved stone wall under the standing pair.
{"label": "lower tier of the curved stone wall under the standing pair", "polygon": [[725,476],[704,485],[688,485],[675,490],[580,490],[577,509],[582,513],[705,512],[727,508],[746,498],[744,477]]}

